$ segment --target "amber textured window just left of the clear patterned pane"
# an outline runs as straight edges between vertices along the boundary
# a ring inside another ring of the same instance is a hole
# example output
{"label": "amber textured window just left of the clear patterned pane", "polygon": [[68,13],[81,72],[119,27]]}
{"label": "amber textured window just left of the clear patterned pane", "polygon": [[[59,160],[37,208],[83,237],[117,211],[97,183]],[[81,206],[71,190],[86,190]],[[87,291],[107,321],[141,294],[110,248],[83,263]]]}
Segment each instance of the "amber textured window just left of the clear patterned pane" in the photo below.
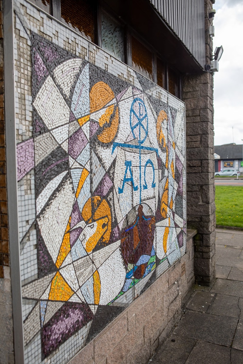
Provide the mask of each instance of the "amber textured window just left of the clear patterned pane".
{"label": "amber textured window just left of the clear patterned pane", "polygon": [[62,19],[94,42],[94,9],[90,0],[61,0]]}

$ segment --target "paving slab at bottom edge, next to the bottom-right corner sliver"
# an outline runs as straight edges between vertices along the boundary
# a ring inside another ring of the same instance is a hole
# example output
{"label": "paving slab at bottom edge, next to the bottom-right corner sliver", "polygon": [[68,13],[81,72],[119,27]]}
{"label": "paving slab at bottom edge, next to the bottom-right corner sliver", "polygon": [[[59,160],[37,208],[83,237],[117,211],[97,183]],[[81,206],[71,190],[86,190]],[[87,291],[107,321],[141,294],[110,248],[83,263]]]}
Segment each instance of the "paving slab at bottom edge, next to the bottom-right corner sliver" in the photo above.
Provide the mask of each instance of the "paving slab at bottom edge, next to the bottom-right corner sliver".
{"label": "paving slab at bottom edge, next to the bottom-right corner sliver", "polygon": [[[172,363],[172,362],[169,362]],[[230,348],[197,341],[185,364],[232,364]],[[238,363],[239,364],[239,363]]]}

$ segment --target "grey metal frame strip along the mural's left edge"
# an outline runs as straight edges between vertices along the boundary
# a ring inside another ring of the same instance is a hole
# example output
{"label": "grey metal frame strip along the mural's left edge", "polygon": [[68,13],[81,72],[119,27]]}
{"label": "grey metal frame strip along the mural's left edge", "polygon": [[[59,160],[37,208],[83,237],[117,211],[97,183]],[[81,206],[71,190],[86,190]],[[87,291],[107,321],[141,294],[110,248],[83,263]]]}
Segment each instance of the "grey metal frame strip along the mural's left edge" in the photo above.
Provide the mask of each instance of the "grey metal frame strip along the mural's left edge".
{"label": "grey metal frame strip along the mural's left edge", "polygon": [[15,126],[13,0],[3,1],[4,113],[6,133],[6,171],[8,198],[9,253],[13,307],[13,343],[15,363],[24,363],[19,227],[17,210],[17,166]]}

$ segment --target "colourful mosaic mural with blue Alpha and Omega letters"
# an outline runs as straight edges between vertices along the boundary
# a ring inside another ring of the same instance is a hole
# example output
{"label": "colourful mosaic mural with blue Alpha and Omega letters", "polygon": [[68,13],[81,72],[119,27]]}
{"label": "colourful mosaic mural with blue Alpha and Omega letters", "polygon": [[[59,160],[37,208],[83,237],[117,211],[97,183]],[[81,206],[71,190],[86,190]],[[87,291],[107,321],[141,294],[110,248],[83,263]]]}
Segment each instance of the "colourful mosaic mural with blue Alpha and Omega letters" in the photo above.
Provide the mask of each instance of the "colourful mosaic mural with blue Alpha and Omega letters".
{"label": "colourful mosaic mural with blue Alpha and Omega letters", "polygon": [[28,363],[65,363],[185,253],[184,103],[22,19],[31,50],[22,141],[20,105],[17,119],[25,353]]}

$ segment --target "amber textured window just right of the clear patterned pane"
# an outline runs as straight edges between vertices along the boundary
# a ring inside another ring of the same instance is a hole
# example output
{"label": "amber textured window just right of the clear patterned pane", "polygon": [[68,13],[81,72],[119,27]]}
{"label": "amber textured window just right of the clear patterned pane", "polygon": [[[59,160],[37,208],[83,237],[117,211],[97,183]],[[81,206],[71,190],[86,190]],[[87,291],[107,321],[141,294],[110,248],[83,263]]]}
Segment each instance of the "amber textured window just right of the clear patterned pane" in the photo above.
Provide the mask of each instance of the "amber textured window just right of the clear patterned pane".
{"label": "amber textured window just right of the clear patterned pane", "polygon": [[153,53],[134,36],[132,43],[132,67],[153,81]]}

